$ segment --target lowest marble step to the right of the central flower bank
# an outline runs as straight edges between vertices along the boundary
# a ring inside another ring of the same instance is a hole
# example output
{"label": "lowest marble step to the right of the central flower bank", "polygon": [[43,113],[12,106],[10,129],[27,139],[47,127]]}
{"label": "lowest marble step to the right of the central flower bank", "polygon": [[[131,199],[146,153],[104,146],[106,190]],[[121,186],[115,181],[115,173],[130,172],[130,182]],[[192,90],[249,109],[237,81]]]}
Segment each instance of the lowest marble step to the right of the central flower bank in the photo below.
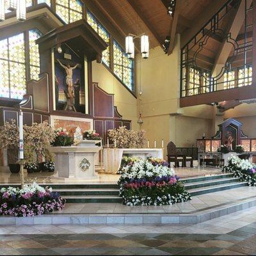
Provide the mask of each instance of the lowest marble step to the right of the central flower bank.
{"label": "lowest marble step to the right of the central flower bank", "polygon": [[214,193],[217,191],[222,191],[227,189],[239,188],[243,186],[248,186],[248,182],[232,182],[228,184],[221,184],[221,185],[216,185],[211,187],[207,186],[202,188],[188,189],[187,191],[191,194],[191,196],[197,196],[197,195]]}

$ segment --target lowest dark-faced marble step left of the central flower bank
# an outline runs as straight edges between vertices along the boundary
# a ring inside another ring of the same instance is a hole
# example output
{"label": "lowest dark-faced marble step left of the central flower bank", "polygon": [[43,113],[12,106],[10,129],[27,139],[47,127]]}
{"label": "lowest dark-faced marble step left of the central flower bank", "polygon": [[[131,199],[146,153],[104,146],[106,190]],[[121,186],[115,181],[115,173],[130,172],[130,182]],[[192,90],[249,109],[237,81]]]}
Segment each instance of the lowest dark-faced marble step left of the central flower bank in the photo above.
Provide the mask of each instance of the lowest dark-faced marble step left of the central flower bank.
{"label": "lowest dark-faced marble step left of the central flower bank", "polygon": [[67,203],[121,203],[122,198],[119,196],[111,195],[76,195],[76,196],[63,196]]}

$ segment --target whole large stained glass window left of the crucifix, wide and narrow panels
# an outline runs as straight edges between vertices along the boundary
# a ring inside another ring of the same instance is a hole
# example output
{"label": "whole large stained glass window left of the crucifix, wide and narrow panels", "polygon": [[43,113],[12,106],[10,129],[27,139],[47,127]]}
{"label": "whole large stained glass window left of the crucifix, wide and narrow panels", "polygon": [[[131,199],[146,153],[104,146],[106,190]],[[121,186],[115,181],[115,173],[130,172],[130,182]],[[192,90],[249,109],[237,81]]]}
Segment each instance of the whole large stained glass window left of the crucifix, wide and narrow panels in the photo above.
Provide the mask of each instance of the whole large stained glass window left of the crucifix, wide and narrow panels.
{"label": "whole large stained glass window left of the crucifix, wide and narrow panels", "polygon": [[[35,40],[40,35],[40,31],[34,29],[0,41],[0,97],[22,99],[27,79],[38,79],[40,57]],[[26,44],[29,52],[25,51]]]}

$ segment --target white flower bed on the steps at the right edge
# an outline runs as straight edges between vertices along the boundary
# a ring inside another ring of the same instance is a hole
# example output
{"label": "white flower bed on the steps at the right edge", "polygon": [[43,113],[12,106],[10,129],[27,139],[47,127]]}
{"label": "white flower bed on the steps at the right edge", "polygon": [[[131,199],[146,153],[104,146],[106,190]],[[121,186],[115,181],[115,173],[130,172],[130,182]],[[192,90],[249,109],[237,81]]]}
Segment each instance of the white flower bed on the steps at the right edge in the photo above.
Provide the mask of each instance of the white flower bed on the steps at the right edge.
{"label": "white flower bed on the steps at the right edge", "polygon": [[256,164],[250,163],[247,159],[229,157],[228,165],[223,167],[222,172],[231,172],[234,177],[248,182],[249,186],[256,186]]}

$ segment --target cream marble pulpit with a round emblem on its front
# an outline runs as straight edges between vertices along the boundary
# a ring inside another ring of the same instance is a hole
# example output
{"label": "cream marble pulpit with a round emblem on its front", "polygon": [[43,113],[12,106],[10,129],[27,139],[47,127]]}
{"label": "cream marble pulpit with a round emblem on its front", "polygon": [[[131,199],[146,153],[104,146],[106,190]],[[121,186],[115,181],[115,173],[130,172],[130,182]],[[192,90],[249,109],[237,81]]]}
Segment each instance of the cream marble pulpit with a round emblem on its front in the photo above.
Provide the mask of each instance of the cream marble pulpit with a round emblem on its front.
{"label": "cream marble pulpit with a round emblem on its front", "polygon": [[[99,141],[98,141],[99,142]],[[95,173],[95,155],[101,147],[51,147],[54,153],[56,175],[66,179],[93,179]]]}

